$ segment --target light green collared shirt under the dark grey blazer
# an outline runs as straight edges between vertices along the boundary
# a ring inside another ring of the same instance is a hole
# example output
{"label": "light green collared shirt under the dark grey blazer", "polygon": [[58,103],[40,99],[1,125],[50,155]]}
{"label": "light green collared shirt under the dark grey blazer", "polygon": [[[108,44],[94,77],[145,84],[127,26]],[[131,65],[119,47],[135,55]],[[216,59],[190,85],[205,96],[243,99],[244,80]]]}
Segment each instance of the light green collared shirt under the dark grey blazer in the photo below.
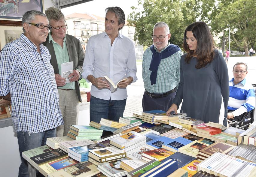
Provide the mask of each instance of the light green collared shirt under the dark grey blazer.
{"label": "light green collared shirt under the dark grey blazer", "polygon": [[[59,75],[61,75],[61,64],[69,62],[69,52],[66,46],[66,35],[65,35],[65,38],[63,39],[63,47],[61,47],[58,43],[56,43],[53,40],[51,32],[49,33],[49,42],[50,41],[52,41],[53,43],[53,48],[54,48],[54,52],[56,55],[56,60],[59,68]],[[63,87],[58,87],[58,88],[75,90],[75,82],[67,83]]]}

